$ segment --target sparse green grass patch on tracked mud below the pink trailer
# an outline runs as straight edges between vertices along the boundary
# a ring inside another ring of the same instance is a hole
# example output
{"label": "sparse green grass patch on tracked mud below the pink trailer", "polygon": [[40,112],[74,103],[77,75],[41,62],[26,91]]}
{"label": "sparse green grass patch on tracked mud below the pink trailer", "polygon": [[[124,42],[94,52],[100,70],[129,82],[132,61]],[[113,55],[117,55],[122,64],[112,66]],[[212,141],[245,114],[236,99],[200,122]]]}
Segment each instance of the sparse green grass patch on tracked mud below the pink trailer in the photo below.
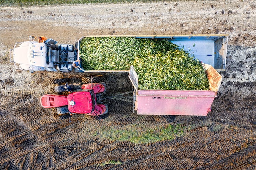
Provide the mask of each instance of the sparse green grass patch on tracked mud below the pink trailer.
{"label": "sparse green grass patch on tracked mud below the pink trailer", "polygon": [[119,127],[102,127],[94,133],[94,136],[110,140],[129,141],[132,143],[152,143],[162,140],[172,140],[183,135],[183,127],[180,125],[161,125],[148,127],[146,125],[131,124],[122,129]]}

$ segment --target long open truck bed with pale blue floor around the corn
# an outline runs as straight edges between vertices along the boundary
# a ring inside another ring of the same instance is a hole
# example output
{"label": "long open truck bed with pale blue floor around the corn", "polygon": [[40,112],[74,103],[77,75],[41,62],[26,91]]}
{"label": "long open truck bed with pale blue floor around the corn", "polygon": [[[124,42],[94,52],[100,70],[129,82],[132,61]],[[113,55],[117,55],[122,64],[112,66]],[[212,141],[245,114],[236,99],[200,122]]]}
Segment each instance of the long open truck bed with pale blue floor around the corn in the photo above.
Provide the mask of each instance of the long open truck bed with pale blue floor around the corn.
{"label": "long open truck bed with pale blue floor around the corn", "polygon": [[[213,66],[217,71],[226,69],[226,55],[228,35],[115,35],[115,36],[83,36],[78,41],[77,56],[80,58],[80,41],[88,37],[135,37],[135,38],[151,38],[165,39],[187,50],[194,55],[199,61]],[[129,70],[84,70],[76,69],[77,72],[128,72]]]}

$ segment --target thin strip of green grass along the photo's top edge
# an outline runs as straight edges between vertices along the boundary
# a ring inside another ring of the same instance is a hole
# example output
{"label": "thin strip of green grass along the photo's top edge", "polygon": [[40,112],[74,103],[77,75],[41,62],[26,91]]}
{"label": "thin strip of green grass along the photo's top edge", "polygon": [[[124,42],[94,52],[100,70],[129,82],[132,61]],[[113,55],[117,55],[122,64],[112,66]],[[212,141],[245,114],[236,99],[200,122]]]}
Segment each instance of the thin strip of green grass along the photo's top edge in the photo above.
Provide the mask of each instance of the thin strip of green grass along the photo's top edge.
{"label": "thin strip of green grass along the photo's top edge", "polygon": [[[164,0],[157,0],[162,2]],[[85,4],[85,3],[134,3],[134,2],[156,2],[155,0],[1,0],[0,6],[41,6],[41,5],[63,5],[63,4]]]}

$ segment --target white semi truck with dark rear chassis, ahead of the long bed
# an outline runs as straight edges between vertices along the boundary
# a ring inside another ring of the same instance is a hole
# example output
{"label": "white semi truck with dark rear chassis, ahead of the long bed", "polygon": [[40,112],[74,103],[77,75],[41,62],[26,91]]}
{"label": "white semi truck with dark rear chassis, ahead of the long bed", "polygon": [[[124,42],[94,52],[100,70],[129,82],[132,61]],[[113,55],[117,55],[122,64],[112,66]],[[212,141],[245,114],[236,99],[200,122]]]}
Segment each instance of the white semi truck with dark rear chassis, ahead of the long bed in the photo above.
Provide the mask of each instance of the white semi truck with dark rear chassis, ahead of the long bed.
{"label": "white semi truck with dark rear chassis, ahead of the long bed", "polygon": [[33,36],[29,36],[29,41],[15,43],[14,48],[9,50],[10,62],[16,69],[30,73],[43,70],[70,72],[77,58],[74,45],[57,43],[51,38],[38,43]]}

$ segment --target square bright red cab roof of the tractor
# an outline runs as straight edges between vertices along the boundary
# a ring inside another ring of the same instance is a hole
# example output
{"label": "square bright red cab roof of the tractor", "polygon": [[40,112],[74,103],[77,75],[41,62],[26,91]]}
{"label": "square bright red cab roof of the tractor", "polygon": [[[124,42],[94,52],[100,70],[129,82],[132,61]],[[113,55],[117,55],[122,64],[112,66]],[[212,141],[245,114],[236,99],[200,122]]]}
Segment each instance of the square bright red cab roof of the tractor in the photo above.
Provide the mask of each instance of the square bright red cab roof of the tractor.
{"label": "square bright red cab roof of the tractor", "polygon": [[78,91],[68,95],[68,109],[71,113],[91,113],[93,101],[89,91]]}

